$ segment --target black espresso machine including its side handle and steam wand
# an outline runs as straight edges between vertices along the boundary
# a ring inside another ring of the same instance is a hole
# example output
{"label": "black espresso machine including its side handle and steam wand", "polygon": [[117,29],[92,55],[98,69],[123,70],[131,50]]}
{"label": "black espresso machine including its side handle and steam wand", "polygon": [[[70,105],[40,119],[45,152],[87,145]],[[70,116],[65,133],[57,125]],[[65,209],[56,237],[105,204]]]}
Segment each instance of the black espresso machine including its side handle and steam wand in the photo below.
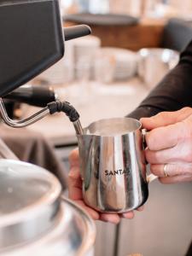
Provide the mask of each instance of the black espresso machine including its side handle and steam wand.
{"label": "black espresso machine including its side handle and steam wand", "polygon": [[[0,113],[3,121],[20,128],[44,118],[49,113],[65,112],[71,116],[76,131],[81,131],[79,114],[68,102],[55,102],[49,89],[21,86],[59,61],[64,42],[90,34],[85,25],[63,29],[58,1],[17,1],[0,3]],[[21,86],[21,87],[20,87]],[[9,118],[3,98],[15,99],[38,107],[48,106],[26,120]]]}

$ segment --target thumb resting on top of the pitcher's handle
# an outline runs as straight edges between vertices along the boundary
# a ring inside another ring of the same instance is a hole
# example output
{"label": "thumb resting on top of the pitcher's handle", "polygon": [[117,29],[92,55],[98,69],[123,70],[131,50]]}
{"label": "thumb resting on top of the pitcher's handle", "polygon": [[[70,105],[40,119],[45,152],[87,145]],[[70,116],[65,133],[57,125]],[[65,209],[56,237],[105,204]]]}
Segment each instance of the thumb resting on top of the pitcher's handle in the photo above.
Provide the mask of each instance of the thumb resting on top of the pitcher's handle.
{"label": "thumb resting on top of the pitcher's handle", "polygon": [[152,130],[161,126],[172,125],[182,121],[192,114],[192,108],[182,108],[173,112],[160,112],[150,118],[140,119],[143,128]]}

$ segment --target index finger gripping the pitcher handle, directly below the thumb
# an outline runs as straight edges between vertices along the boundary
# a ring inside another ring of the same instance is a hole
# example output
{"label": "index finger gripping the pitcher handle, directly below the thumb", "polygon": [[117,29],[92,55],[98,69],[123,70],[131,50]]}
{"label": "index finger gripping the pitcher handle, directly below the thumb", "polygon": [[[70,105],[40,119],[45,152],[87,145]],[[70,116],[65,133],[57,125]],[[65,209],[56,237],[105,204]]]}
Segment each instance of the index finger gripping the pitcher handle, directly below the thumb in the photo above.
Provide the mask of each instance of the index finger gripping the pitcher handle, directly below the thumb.
{"label": "index finger gripping the pitcher handle, directly below the thumb", "polygon": [[183,122],[178,122],[175,125],[167,125],[149,131],[145,135],[148,149],[153,151],[174,147],[182,139],[184,129]]}

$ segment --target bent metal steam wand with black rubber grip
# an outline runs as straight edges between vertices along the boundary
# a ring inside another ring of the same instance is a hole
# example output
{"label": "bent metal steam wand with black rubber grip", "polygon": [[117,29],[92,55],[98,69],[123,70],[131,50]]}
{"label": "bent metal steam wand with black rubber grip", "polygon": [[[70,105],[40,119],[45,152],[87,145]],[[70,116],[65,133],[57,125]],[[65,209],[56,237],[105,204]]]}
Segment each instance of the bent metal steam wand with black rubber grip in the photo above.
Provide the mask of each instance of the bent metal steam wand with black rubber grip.
{"label": "bent metal steam wand with black rubber grip", "polygon": [[53,113],[63,112],[66,113],[70,121],[73,122],[74,129],[76,134],[83,134],[83,128],[79,121],[79,113],[69,102],[49,102],[47,107],[41,109],[37,113],[32,114],[32,116],[23,119],[23,120],[13,120],[10,119],[6,108],[3,103],[3,99],[0,98],[0,114],[6,125],[9,125],[13,128],[26,127],[36,123],[38,120],[43,119],[45,116]]}

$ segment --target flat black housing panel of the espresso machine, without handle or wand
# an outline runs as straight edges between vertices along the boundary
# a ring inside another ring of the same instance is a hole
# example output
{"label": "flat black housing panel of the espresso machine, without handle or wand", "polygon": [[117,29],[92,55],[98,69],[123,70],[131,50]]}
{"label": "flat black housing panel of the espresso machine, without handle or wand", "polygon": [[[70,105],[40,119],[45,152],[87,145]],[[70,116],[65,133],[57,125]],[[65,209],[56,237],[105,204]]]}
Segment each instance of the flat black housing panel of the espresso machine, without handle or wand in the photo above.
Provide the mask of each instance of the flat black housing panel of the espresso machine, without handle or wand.
{"label": "flat black housing panel of the espresso machine, without handle or wand", "polygon": [[42,73],[64,55],[57,0],[0,0],[0,96]]}

